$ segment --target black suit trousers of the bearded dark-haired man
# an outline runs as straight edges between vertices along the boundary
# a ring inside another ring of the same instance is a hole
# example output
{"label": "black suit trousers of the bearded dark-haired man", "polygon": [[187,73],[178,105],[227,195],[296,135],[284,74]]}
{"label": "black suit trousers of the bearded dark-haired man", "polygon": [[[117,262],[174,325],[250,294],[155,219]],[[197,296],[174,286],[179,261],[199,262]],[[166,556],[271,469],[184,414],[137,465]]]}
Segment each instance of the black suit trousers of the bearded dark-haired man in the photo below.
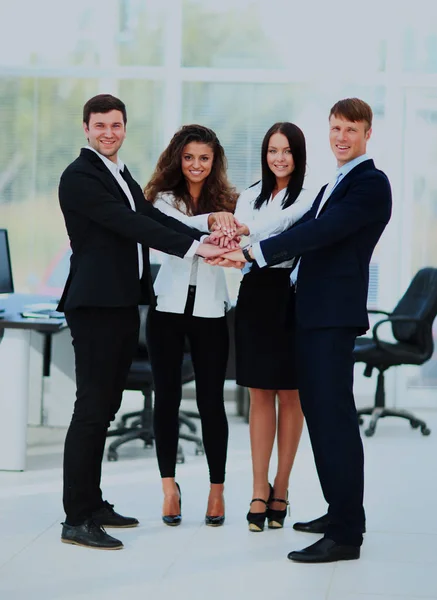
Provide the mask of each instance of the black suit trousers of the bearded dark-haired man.
{"label": "black suit trousers of the bearded dark-haired man", "polygon": [[64,509],[80,525],[103,503],[106,432],[120,408],[138,345],[138,307],[78,308],[65,314],[73,338],[76,402],[65,439]]}

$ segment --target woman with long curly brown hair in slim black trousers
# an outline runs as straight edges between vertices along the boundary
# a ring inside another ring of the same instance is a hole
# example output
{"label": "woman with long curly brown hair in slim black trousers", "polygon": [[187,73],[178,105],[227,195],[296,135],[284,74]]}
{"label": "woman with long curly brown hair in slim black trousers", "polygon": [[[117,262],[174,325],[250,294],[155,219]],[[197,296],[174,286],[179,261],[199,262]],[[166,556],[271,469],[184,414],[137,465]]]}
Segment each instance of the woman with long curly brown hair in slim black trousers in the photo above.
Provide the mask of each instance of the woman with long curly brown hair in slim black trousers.
{"label": "woman with long curly brown hair in slim black trousers", "polygon": [[[226,158],[216,134],[185,125],[161,154],[144,194],[167,215],[208,232],[220,215],[234,226],[237,194],[226,177]],[[190,344],[196,400],[210,474],[207,525],[225,519],[224,480],[228,423],[223,387],[228,359],[226,310],[229,298],[223,269],[196,256],[165,256],[155,280],[156,308],[149,311],[147,339],[155,386],[154,431],[164,492],[163,521],[181,522],[181,495],[175,481],[182,397],[181,364]]]}

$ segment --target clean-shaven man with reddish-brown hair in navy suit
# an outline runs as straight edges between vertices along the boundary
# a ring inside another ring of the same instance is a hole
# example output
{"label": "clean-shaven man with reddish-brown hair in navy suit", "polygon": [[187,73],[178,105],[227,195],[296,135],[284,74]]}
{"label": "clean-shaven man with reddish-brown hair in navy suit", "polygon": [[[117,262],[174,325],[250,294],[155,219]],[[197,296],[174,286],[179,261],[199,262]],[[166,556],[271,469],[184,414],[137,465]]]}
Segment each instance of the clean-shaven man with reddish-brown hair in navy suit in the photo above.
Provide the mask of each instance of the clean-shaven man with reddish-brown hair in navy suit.
{"label": "clean-shaven man with reddish-brown hair in navy suit", "polygon": [[[372,110],[340,100],[329,115],[337,173],[292,228],[218,264],[260,267],[292,257],[299,393],[328,514],[295,529],[324,537],[288,557],[299,562],[359,558],[365,530],[364,458],[353,396],[355,338],[369,327],[369,263],[391,215],[386,175],[366,155]],[[217,262],[217,261],[216,261]]]}

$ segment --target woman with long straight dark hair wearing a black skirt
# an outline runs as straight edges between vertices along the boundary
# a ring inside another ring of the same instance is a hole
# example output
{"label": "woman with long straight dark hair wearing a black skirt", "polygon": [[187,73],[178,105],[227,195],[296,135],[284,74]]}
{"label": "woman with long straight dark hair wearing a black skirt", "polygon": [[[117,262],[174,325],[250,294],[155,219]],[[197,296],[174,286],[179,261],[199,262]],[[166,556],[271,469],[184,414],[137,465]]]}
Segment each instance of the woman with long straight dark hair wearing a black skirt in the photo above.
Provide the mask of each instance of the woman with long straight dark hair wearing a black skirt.
{"label": "woman with long straight dark hair wearing a black skirt", "polygon": [[[251,243],[284,231],[312,205],[302,193],[306,144],[299,127],[283,122],[267,131],[261,166],[261,181],[241,194],[235,210]],[[220,218],[217,224],[221,226]],[[222,227],[226,229],[226,224]],[[269,528],[283,527],[288,481],[303,426],[294,354],[292,267],[293,261],[265,269],[246,266],[236,307],[237,383],[250,391],[251,531],[262,531],[266,518]],[[268,473],[276,433],[278,464],[272,487]]]}

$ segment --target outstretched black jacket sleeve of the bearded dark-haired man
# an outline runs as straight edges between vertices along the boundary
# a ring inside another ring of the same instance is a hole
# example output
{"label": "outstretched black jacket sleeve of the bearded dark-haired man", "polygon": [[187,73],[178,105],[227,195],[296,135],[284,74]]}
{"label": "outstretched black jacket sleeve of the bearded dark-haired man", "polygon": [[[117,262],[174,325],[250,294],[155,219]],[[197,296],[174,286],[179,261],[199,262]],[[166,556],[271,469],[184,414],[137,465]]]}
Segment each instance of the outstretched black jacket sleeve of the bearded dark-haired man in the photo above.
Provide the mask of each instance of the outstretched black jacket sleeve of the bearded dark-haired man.
{"label": "outstretched black jacket sleeve of the bearded dark-haired man", "polygon": [[[148,215],[131,210],[96,177],[86,172],[63,173],[59,201],[64,213],[78,213],[125,238],[181,258],[188,252],[197,234],[200,237],[200,232],[190,227],[184,226],[184,231],[170,228],[170,221],[183,224],[156,209],[148,211]],[[155,218],[155,211],[165,219]]]}

